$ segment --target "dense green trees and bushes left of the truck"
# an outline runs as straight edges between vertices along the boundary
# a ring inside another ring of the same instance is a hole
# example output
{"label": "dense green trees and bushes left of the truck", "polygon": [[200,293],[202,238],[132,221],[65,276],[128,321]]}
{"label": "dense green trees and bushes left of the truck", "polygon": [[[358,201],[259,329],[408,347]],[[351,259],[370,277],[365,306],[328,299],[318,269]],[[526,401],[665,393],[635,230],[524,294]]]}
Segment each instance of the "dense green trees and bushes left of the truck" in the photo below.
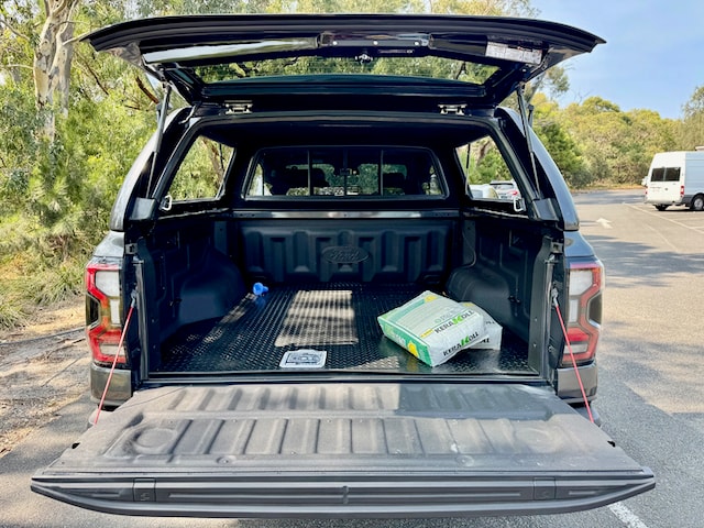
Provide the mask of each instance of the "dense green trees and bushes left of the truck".
{"label": "dense green trees and bushes left of the truck", "polygon": [[[26,9],[12,16],[0,9],[1,326],[21,323],[32,306],[82,288],[85,262],[107,229],[119,185],[155,127],[135,73],[82,44],[68,114],[37,111],[31,64],[41,14],[15,3]],[[101,21],[117,20],[110,2],[87,9]],[[3,23],[13,31],[3,32]],[[42,134],[48,113],[53,140]]]}

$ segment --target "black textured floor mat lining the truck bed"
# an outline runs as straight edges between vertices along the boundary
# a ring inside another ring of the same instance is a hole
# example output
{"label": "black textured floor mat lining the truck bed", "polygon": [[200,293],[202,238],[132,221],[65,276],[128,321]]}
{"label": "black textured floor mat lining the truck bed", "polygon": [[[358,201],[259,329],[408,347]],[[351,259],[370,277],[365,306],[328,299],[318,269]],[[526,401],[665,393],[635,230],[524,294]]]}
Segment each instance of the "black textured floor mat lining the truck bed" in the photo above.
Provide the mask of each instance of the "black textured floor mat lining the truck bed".
{"label": "black textured floor mat lining the truck bed", "polygon": [[430,367],[386,339],[376,317],[424,288],[414,284],[314,283],[246,295],[223,318],[180,328],[151,375],[279,371],[287,351],[327,352],[322,369],[397,374],[537,375],[527,344],[504,329],[501,351],[470,350]]}

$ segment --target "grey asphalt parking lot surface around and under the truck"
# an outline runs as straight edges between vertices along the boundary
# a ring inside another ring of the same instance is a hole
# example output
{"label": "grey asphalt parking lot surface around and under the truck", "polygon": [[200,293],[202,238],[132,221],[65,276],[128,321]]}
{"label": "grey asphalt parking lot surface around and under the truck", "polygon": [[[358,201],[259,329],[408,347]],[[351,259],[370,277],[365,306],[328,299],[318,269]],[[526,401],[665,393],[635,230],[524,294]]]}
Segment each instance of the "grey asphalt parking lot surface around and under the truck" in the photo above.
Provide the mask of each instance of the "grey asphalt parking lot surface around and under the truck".
{"label": "grey asphalt parking lot surface around and under the truck", "polygon": [[652,469],[652,492],[561,516],[395,521],[130,518],[74,508],[30,492],[31,474],[70,446],[91,406],[73,404],[0,459],[0,526],[70,527],[603,527],[704,526],[704,212],[664,212],[641,193],[578,195],[582,230],[606,267],[598,352],[604,429]]}

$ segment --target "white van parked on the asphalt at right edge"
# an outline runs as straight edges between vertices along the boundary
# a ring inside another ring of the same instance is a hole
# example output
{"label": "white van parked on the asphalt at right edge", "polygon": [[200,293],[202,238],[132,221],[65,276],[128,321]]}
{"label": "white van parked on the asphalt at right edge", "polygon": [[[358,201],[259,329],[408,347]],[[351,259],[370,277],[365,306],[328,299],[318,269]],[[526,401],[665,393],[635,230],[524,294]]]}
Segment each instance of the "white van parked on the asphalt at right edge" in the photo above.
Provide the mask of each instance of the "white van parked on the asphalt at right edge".
{"label": "white van parked on the asphalt at right edge", "polygon": [[704,210],[704,148],[657,153],[645,185],[646,204],[652,204],[659,211],[668,206]]}

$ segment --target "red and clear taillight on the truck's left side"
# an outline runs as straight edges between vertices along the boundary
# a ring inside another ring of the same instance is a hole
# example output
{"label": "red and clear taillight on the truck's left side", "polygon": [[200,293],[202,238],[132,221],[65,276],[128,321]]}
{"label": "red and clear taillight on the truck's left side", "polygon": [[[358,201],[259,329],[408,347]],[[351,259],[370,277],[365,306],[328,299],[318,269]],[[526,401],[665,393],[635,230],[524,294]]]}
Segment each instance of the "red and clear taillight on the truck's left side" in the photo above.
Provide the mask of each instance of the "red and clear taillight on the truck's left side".
{"label": "red and clear taillight on the truck's left side", "polygon": [[122,297],[120,266],[90,262],[86,267],[86,334],[96,363],[127,363],[123,350],[118,350],[122,331]]}

